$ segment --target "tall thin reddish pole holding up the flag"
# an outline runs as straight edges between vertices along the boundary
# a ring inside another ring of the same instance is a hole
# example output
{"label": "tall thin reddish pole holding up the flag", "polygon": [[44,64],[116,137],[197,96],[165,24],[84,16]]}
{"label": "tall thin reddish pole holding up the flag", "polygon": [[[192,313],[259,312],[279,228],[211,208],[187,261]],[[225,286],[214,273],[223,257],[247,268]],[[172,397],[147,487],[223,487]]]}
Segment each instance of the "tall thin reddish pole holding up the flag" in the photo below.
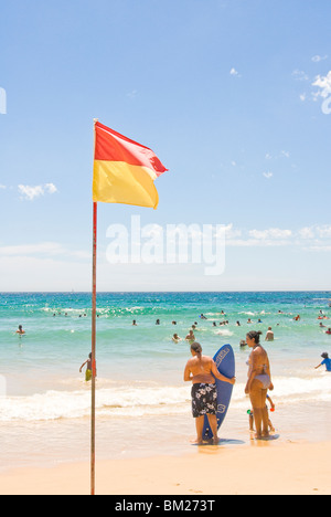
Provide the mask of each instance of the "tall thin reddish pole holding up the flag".
{"label": "tall thin reddish pole holding up the flag", "polygon": [[[97,119],[94,120],[94,124]],[[95,133],[95,130],[94,130]],[[93,203],[92,272],[92,403],[90,403],[90,495],[95,495],[95,391],[96,391],[96,279],[97,279],[97,202]]]}

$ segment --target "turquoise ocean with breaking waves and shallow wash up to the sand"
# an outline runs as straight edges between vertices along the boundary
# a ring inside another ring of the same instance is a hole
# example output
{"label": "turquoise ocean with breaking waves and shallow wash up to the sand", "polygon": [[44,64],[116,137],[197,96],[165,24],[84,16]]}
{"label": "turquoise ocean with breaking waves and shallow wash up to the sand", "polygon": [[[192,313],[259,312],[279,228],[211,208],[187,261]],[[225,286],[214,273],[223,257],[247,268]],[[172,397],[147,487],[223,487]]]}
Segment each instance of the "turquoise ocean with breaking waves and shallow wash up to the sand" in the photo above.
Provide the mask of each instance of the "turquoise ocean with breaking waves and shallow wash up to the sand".
{"label": "turquoise ocean with breaking waves and shallow wash up to the sand", "polygon": [[[329,440],[331,373],[314,367],[322,352],[331,354],[331,319],[318,319],[321,313],[331,318],[330,304],[331,292],[98,294],[97,458],[192,453],[183,370],[193,324],[204,354],[225,344],[235,350],[237,383],[220,433],[224,444],[249,443],[249,350],[239,342],[248,330],[265,336],[269,326],[271,419],[280,440]],[[90,305],[88,293],[0,295],[0,468],[88,461],[90,386],[79,367],[90,351]],[[223,320],[228,324],[220,326]],[[19,325],[24,336],[15,334]],[[183,340],[174,344],[174,333]]]}

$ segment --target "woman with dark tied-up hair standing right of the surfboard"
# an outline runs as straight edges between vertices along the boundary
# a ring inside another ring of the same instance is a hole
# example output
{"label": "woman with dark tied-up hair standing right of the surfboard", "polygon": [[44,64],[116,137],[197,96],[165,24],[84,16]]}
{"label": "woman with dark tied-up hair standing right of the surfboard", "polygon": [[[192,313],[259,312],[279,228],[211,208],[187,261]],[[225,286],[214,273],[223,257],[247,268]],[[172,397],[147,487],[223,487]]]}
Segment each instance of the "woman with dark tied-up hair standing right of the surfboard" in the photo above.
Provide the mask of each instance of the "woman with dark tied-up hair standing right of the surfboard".
{"label": "woman with dark tied-up hair standing right of the surfboard", "polygon": [[269,436],[269,416],[266,402],[268,390],[274,390],[269,358],[259,342],[260,335],[261,333],[253,330],[246,336],[246,342],[253,350],[248,360],[249,370],[245,393],[249,394],[254,411],[256,440]]}

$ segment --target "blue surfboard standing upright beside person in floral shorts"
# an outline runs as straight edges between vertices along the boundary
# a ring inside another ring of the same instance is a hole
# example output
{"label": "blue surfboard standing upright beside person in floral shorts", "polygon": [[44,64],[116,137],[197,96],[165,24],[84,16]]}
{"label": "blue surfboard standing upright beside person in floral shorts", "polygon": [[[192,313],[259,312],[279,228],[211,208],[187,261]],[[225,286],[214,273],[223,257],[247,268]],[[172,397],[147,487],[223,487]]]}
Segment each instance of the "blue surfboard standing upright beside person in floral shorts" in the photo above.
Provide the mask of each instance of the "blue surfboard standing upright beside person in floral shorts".
{"label": "blue surfboard standing upright beside person in floral shorts", "polygon": [[[215,355],[214,361],[222,376],[228,379],[235,377],[235,356],[231,345],[224,345]],[[217,429],[220,429],[229,407],[233,386],[228,382],[220,381],[218,379],[215,381],[217,387]],[[212,440],[213,437],[207,416],[204,418],[203,437],[204,440]]]}

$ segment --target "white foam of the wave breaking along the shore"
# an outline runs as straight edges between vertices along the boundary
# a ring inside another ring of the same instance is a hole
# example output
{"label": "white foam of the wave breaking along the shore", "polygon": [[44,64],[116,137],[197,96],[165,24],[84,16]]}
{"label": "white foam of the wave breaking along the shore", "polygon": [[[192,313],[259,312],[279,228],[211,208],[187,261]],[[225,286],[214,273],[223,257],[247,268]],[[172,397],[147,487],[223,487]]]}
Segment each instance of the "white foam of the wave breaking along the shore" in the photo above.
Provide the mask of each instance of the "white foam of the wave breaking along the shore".
{"label": "white foam of the wave breaking along the shore", "polygon": [[[270,393],[277,405],[331,401],[331,374],[316,378],[274,378]],[[249,401],[245,384],[234,388],[232,409],[246,409]],[[184,414],[190,411],[190,387],[132,386],[97,389],[97,414],[103,418]],[[40,422],[58,419],[79,419],[90,414],[90,392],[47,391],[30,397],[0,398],[0,422]]]}

